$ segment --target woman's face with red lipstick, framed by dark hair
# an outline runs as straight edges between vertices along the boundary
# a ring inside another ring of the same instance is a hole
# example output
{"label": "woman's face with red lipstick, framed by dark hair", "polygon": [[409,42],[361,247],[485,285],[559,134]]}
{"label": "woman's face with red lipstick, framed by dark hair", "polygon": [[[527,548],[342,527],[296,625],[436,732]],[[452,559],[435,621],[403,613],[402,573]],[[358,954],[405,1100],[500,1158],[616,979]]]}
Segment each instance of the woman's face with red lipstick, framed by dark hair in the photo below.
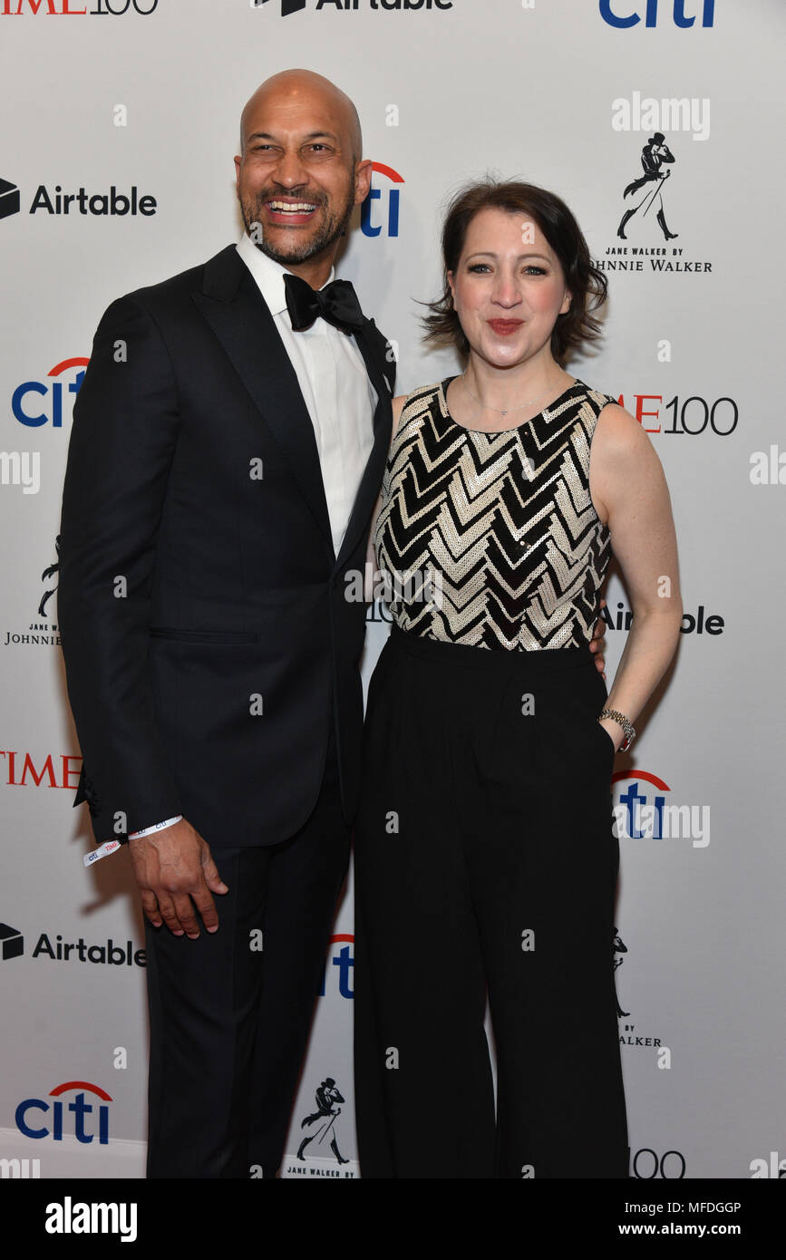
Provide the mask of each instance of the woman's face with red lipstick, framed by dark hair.
{"label": "woman's face with red lipstick, framed by dark hair", "polygon": [[447,273],[471,350],[495,368],[553,362],[552,329],[571,306],[559,260],[519,212],[479,210],[456,271]]}

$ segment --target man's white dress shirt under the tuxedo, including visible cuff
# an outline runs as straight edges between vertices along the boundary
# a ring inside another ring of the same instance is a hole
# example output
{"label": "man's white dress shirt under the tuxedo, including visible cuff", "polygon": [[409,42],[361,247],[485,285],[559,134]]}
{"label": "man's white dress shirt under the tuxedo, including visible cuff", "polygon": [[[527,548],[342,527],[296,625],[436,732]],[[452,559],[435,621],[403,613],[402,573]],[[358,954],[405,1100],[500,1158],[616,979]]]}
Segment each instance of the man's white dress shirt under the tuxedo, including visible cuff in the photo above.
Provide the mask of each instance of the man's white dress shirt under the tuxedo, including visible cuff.
{"label": "man's white dress shirt under the tuxedo, including visible cuff", "polygon": [[[283,277],[286,267],[257,249],[243,233],[237,252],[257,282],[273,323],[297,374],[297,383],[314,425],[316,450],[322,470],[333,549],[339,548],[346,532],[363,470],[374,442],[377,391],[368,378],[358,344],[348,333],[316,319],[311,328],[292,331],[286,305]],[[334,278],[331,270],[325,284]],[[181,814],[155,823],[130,839],[149,835],[179,823]]]}

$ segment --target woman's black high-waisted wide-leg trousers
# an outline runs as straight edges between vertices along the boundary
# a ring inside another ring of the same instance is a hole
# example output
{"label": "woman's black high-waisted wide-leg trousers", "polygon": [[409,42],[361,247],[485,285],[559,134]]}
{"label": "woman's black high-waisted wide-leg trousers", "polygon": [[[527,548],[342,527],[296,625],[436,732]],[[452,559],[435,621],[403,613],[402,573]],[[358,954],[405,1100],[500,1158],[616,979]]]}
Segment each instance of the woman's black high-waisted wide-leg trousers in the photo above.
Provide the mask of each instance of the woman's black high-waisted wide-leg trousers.
{"label": "woman's black high-waisted wide-leg trousers", "polygon": [[362,1177],[627,1177],[606,697],[588,648],[393,626],[355,829]]}

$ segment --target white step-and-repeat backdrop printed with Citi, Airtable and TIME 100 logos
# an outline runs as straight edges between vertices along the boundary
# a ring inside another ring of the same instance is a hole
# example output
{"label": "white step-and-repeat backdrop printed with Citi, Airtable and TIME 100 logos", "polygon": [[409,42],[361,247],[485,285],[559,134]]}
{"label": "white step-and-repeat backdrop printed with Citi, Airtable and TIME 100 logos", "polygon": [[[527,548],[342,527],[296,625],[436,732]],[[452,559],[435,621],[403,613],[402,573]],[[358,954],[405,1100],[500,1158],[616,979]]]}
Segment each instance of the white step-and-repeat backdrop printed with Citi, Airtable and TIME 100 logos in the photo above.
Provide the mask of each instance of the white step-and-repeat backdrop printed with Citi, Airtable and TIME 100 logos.
{"label": "white step-and-repeat backdrop printed with Citi, Airtable and TIME 100 logos", "polygon": [[[461,181],[559,193],[607,272],[602,346],[568,367],[650,435],[685,607],[613,781],[631,1174],[786,1176],[785,25],[780,0],[0,0],[3,1176],[144,1176],[141,917],[127,853],[86,868],[72,810],[62,479],[102,311],[239,237],[239,112],[286,67],[358,105],[375,173],[340,273],[402,391],[456,370],[424,352],[417,301]],[[654,154],[669,178],[626,195]],[[613,572],[606,597],[611,679],[630,625]],[[365,680],[387,631],[377,606]],[[351,1013],[350,881],[283,1176],[360,1176]],[[300,1149],[328,1079],[346,1163]]]}

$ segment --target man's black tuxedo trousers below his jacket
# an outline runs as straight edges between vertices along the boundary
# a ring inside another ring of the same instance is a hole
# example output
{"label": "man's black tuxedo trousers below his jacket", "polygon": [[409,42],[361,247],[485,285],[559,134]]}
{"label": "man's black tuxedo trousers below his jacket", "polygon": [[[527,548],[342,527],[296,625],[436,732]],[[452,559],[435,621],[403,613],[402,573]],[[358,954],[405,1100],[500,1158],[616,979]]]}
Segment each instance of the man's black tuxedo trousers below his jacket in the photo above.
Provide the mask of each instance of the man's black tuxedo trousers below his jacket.
{"label": "man's black tuxedo trousers below his jacket", "polygon": [[331,737],[296,835],[210,845],[229,888],[214,897],[215,934],[189,940],[145,920],[149,1178],[276,1176],[349,844]]}

